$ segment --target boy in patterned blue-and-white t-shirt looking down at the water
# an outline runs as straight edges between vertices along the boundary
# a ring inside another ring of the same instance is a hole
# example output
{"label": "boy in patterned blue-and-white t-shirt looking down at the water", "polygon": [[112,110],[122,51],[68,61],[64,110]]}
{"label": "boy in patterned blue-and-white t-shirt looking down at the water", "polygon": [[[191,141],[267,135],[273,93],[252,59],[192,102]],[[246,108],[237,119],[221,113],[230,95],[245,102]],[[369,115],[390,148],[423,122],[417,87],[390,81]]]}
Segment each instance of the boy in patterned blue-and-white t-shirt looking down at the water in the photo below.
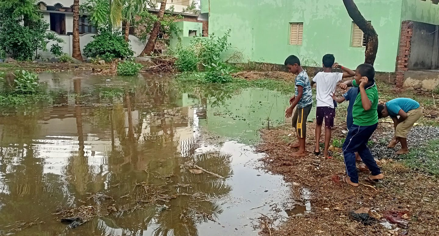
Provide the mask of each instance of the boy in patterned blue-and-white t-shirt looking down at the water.
{"label": "boy in patterned blue-and-white t-shirt looking down at the water", "polygon": [[294,144],[292,147],[299,147],[299,151],[293,153],[293,156],[301,157],[306,155],[306,121],[313,107],[313,91],[311,90],[308,74],[306,74],[306,71],[300,66],[298,57],[294,55],[289,56],[287,60],[285,60],[285,66],[289,72],[297,74],[295,79],[295,95],[290,98],[291,106],[285,111],[285,117],[290,118],[294,107],[297,106],[292,118],[292,125],[296,129],[299,143]]}

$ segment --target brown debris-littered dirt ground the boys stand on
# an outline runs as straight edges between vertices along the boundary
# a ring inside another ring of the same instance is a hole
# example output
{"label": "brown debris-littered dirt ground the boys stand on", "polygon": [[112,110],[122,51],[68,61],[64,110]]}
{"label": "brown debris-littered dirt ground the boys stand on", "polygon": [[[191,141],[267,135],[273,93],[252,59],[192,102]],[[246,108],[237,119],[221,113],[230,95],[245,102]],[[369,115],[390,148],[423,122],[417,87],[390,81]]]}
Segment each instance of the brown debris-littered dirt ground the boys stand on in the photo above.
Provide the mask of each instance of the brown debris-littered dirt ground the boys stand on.
{"label": "brown debris-littered dirt ground the boys stand on", "polygon": [[[383,91],[380,94],[380,99],[383,100],[389,100],[391,97],[419,97],[418,100],[425,109],[424,118],[419,122],[428,125],[438,121],[439,109],[432,101],[432,97],[406,90],[395,90],[392,86],[381,83],[378,87],[378,90]],[[345,115],[342,109],[337,109],[332,140],[345,138],[346,135],[343,133],[345,132]],[[290,217],[278,226],[266,227],[268,224],[263,224],[261,235],[439,235],[439,180],[437,176],[415,172],[403,165],[400,160],[378,158],[377,163],[385,179],[370,186],[364,181],[364,178],[369,175],[366,171],[359,173],[360,186],[351,187],[340,182],[340,176],[345,175],[341,150],[335,147],[333,158],[316,157],[313,154],[315,123],[309,122],[307,125],[308,155],[306,157],[292,156],[295,149],[291,149],[289,145],[296,142],[296,137],[291,125],[261,131],[263,141],[257,150],[267,154],[261,159],[266,170],[273,174],[283,175],[285,181],[291,183],[296,199],[300,199],[300,192],[304,188],[312,193],[310,213]],[[389,129],[392,129],[392,124],[381,120],[374,134],[380,136]],[[324,129],[320,141],[324,141]],[[361,207],[370,208],[370,215],[376,221],[370,225],[364,225],[355,220],[350,213]],[[386,229],[380,225],[379,220],[389,211],[407,213],[404,218],[409,221],[408,228],[396,228],[396,225],[393,225],[395,229]],[[263,219],[263,221],[270,222],[270,219]]]}

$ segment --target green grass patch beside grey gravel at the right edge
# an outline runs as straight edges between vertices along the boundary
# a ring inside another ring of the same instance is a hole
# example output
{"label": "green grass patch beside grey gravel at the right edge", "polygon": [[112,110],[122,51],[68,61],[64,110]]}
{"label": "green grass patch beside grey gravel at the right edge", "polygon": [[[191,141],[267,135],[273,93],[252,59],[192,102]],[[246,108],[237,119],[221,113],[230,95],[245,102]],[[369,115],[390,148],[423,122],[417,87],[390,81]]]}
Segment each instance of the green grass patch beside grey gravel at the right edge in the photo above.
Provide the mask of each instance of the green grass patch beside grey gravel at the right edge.
{"label": "green grass patch beside grey gravel at the right edge", "polygon": [[412,169],[439,176],[439,139],[429,141],[426,147],[417,147],[403,156],[403,163]]}

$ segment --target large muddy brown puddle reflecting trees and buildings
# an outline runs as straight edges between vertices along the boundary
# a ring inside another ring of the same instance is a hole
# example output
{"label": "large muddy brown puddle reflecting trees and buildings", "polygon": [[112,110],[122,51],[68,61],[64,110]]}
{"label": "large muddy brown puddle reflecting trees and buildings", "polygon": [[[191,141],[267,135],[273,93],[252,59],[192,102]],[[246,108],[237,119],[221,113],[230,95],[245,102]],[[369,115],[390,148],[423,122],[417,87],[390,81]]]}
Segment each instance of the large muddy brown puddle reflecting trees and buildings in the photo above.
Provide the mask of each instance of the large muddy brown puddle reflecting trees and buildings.
{"label": "large muddy brown puddle reflecting trees and buildings", "polygon": [[257,235],[261,214],[310,210],[251,147],[284,122],[287,95],[160,76],[40,82],[51,106],[0,116],[0,235]]}

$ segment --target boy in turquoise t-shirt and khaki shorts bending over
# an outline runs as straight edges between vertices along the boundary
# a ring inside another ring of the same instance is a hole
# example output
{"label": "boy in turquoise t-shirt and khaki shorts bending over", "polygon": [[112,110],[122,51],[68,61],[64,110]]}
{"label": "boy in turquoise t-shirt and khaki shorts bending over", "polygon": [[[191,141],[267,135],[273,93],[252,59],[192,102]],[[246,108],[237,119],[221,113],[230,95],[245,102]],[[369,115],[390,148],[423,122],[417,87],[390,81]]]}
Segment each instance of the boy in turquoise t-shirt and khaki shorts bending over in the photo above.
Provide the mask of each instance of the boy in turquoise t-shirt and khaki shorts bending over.
{"label": "boy in turquoise t-shirt and khaki shorts bending over", "polygon": [[[407,134],[413,127],[414,123],[422,116],[422,108],[419,103],[410,98],[396,98],[378,105],[378,118],[390,116],[395,128],[395,137],[389,143],[388,148],[394,148],[396,143],[401,143],[401,149],[396,154],[407,154]],[[399,118],[398,118],[399,116]]]}

